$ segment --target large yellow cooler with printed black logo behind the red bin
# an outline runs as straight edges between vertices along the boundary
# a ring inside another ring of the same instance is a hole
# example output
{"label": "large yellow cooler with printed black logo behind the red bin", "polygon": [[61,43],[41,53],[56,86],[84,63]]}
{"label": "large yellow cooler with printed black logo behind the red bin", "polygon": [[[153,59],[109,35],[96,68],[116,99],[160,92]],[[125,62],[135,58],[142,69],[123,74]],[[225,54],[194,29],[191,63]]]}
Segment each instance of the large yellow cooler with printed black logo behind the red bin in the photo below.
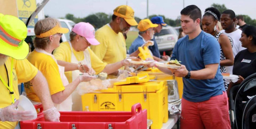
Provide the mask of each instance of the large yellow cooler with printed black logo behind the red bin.
{"label": "large yellow cooler with printed black logo behind the red bin", "polygon": [[82,106],[83,111],[86,106],[89,111],[130,111],[132,105],[140,103],[147,109],[147,118],[153,120],[151,129],[160,129],[168,120],[167,92],[166,80],[113,86],[82,95]]}

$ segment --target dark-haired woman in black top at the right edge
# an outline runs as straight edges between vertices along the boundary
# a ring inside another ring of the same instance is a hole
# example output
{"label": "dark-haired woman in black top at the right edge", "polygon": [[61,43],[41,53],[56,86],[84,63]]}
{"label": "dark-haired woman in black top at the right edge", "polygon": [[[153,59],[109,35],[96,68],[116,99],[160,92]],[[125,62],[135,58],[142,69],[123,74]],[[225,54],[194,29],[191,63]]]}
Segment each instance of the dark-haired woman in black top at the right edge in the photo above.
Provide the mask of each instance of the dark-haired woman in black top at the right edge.
{"label": "dark-haired woman in black top at the right edge", "polygon": [[256,72],[256,27],[245,27],[239,40],[242,47],[247,49],[240,51],[235,57],[233,75],[239,75],[239,80],[230,83],[228,91],[233,85],[240,84],[244,78]]}

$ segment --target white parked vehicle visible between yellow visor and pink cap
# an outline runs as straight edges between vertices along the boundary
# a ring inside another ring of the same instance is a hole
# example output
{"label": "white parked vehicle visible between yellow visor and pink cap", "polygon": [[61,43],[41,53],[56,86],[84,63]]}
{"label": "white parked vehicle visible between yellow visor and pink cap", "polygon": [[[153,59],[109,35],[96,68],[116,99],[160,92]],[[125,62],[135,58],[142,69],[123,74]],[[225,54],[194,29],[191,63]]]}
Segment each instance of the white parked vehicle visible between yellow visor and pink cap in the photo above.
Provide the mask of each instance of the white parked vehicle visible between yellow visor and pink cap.
{"label": "white parked vehicle visible between yellow visor and pink cap", "polygon": [[67,19],[58,19],[61,23],[61,27],[67,28],[69,31],[66,34],[63,34],[61,37],[61,42],[66,42],[67,40],[70,40],[70,32],[73,26],[76,24],[72,20],[67,20]]}

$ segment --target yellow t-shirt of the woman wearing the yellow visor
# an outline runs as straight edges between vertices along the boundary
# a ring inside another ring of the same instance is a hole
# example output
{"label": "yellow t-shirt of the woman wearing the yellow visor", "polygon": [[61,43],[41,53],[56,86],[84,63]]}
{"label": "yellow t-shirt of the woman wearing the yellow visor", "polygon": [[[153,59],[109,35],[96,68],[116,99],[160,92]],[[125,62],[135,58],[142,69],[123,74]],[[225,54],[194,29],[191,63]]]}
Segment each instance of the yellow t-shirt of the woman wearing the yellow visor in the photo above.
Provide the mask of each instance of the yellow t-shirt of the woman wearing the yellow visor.
{"label": "yellow t-shirt of the woman wearing the yellow visor", "polygon": [[[42,72],[46,78],[49,86],[50,94],[61,92],[65,89],[61,81],[61,75],[59,73],[58,65],[51,56],[33,51],[27,57],[30,63],[32,63],[38,70]],[[29,99],[35,102],[41,102],[38,96],[35,94],[33,86],[30,82],[24,83],[25,91]]]}

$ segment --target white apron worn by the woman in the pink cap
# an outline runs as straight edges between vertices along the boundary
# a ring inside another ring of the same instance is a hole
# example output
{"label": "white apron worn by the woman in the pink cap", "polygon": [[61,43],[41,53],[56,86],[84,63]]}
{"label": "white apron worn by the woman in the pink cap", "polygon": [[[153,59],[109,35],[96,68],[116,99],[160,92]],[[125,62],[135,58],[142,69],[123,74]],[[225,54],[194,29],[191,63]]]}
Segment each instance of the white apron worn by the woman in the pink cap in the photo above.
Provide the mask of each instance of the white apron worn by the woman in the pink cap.
{"label": "white apron worn by the woman in the pink cap", "polygon": [[[69,43],[70,49],[71,49],[71,63],[78,64],[79,62],[81,62],[82,64],[85,64],[88,67],[91,67],[90,53],[89,53],[88,49],[84,50],[84,60],[78,61],[76,59],[76,56],[73,53],[73,49],[72,49],[72,45],[71,45],[70,41],[68,43]],[[76,77],[79,77],[80,73],[81,72],[79,72],[79,70],[72,71],[72,81],[75,80]],[[82,111],[81,95],[79,95],[77,92],[73,92],[72,93],[72,102],[73,102],[72,111]]]}

